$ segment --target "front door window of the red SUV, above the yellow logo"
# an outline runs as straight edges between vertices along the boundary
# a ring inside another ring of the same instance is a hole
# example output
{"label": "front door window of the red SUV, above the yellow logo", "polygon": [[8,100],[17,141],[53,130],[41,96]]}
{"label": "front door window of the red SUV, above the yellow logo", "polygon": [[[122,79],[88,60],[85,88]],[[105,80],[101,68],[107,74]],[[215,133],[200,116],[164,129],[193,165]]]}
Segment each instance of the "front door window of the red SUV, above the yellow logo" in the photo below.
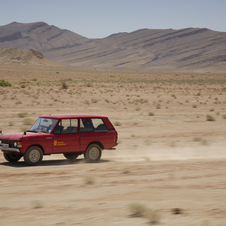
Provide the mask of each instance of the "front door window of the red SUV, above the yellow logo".
{"label": "front door window of the red SUV, above the yellow logo", "polygon": [[58,123],[54,133],[77,133],[78,119],[62,119]]}

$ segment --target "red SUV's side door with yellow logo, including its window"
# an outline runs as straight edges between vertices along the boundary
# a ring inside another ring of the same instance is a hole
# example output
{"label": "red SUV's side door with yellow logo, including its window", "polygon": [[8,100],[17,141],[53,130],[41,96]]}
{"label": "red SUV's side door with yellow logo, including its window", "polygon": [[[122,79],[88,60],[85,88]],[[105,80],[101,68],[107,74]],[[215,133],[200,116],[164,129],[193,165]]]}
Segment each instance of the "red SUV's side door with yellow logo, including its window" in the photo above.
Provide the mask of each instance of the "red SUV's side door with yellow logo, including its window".
{"label": "red SUV's side door with yellow logo, including its window", "polygon": [[61,119],[53,132],[53,153],[79,151],[78,119]]}

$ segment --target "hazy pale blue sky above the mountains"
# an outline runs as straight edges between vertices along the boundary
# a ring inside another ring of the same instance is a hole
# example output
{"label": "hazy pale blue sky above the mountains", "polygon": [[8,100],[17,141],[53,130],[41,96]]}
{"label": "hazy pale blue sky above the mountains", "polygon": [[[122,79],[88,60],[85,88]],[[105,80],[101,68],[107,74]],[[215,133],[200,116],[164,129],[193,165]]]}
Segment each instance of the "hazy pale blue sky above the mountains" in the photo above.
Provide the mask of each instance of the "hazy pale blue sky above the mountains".
{"label": "hazy pale blue sky above the mountains", "polygon": [[141,28],[226,32],[226,0],[0,0],[0,26],[43,21],[87,38]]}

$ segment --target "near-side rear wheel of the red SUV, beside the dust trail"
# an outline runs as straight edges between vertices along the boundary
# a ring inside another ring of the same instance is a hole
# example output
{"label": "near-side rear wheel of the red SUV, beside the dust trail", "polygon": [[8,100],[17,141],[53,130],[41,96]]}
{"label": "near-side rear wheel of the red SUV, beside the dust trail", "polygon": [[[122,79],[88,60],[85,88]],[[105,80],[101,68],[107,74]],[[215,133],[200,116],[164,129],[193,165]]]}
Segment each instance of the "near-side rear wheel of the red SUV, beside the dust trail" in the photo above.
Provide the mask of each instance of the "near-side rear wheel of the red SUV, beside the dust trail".
{"label": "near-side rear wheel of the red SUV, beside the dust trail", "polygon": [[102,150],[98,144],[91,144],[87,147],[84,157],[87,162],[97,162],[100,160]]}

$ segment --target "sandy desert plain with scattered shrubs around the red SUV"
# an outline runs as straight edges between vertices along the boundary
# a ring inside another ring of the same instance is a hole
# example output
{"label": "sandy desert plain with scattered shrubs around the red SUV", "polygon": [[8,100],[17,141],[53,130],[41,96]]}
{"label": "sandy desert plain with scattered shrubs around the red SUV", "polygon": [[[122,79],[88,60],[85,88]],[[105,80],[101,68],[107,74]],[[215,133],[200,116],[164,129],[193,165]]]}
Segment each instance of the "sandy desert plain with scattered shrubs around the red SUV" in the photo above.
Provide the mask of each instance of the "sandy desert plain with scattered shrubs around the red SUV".
{"label": "sandy desert plain with scattered shrubs around the red SUV", "polygon": [[226,225],[226,74],[1,64],[0,130],[44,114],[107,115],[101,161],[0,153],[0,225]]}

